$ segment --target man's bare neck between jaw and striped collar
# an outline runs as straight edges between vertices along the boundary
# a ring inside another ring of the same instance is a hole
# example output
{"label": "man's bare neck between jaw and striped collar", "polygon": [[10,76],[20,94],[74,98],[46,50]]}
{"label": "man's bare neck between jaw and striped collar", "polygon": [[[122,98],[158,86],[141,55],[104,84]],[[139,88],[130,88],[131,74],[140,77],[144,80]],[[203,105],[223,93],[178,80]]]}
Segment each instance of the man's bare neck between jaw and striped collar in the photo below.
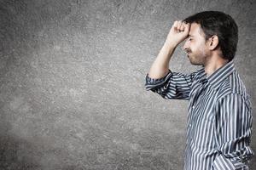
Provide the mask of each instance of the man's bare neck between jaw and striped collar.
{"label": "man's bare neck between jaw and striped collar", "polygon": [[207,73],[207,77],[209,77],[214,71],[217,71],[218,68],[222,67],[223,65],[229,62],[228,59],[222,58],[214,58],[208,59],[206,64],[204,65],[205,71]]}

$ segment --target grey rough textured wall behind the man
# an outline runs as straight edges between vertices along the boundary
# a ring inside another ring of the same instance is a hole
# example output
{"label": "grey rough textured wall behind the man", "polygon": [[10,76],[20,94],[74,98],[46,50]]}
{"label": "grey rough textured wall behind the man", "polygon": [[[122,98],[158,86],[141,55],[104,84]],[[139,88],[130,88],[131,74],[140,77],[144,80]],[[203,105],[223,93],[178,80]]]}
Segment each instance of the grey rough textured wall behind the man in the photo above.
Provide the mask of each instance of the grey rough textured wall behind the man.
{"label": "grey rough textured wall behind the man", "polygon": [[[239,26],[235,65],[255,127],[255,8],[253,0],[0,0],[0,169],[183,169],[188,102],[147,92],[144,81],[172,22],[202,10]],[[170,68],[195,71],[181,46]]]}

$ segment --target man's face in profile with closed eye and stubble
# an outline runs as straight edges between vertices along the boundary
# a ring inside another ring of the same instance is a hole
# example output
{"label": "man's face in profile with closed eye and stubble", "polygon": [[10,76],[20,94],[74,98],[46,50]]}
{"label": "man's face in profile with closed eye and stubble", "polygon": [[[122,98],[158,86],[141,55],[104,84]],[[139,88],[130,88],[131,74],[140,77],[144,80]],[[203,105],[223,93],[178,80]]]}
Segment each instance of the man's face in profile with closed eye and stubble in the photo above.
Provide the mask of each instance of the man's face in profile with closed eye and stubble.
{"label": "man's face in profile with closed eye and stubble", "polygon": [[184,43],[183,49],[188,54],[192,65],[205,65],[209,51],[200,25],[196,23],[190,25],[189,37]]}

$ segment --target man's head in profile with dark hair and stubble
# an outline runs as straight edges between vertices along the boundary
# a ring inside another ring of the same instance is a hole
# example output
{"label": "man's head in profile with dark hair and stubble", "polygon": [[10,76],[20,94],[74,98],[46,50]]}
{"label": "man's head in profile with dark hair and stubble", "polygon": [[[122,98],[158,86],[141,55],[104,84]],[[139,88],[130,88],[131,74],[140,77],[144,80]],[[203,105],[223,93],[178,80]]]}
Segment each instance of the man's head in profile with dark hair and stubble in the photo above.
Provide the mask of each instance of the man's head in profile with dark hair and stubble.
{"label": "man's head in profile with dark hair and stubble", "polygon": [[[193,36],[193,34],[195,34],[194,36],[196,36],[197,34],[197,38],[200,35],[200,38],[204,38],[205,43],[197,42],[197,44],[194,45],[197,47],[193,47],[193,37],[189,36],[187,42],[184,44],[184,49],[188,54],[192,52],[191,55],[195,53],[195,55],[198,56],[198,54],[196,54],[198,52],[199,55],[205,55],[201,57],[207,57],[207,54],[211,53],[211,51],[217,50],[220,52],[219,55],[223,59],[228,59],[229,61],[234,59],[238,42],[238,28],[235,20],[233,20],[229,14],[224,14],[219,11],[204,11],[189,16],[184,19],[183,22],[190,23],[189,35],[191,34]],[[202,46],[199,47],[200,45]],[[193,51],[193,48],[195,48],[195,51]],[[193,57],[193,55],[191,57]],[[193,58],[191,59],[190,61],[193,64]],[[194,57],[194,59],[198,58]],[[194,64],[200,65],[201,62],[195,60]]]}

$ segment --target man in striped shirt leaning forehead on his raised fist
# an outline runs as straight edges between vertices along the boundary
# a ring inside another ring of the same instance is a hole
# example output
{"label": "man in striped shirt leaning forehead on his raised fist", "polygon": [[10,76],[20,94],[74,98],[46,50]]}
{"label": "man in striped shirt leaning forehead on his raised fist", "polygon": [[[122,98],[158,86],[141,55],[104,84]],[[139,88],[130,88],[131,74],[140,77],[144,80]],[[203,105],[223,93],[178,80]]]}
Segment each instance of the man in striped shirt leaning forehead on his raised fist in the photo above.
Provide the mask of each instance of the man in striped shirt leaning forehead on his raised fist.
{"label": "man in striped shirt leaning forehead on his raised fist", "polygon": [[[180,42],[191,74],[171,71]],[[230,15],[204,11],[177,20],[146,76],[145,87],[165,99],[189,100],[185,170],[244,170],[254,155],[249,147],[252,105],[233,63],[238,29]]]}

